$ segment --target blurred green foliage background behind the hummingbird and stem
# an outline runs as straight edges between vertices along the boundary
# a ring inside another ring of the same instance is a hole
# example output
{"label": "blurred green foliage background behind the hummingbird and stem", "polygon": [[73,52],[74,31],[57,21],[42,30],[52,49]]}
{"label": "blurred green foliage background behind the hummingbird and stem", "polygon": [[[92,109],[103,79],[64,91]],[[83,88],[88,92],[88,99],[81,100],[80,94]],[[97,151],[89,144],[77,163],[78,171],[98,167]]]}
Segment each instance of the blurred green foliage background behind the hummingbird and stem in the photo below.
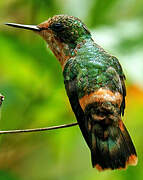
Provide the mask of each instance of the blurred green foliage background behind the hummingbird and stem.
{"label": "blurred green foliage background behind the hummingbird and stem", "polygon": [[45,127],[76,121],[61,67],[46,43],[4,22],[39,24],[55,14],[82,19],[95,41],[117,56],[126,74],[124,122],[139,156],[136,167],[99,173],[76,127],[0,136],[0,180],[126,180],[143,178],[143,1],[0,1],[0,129]]}

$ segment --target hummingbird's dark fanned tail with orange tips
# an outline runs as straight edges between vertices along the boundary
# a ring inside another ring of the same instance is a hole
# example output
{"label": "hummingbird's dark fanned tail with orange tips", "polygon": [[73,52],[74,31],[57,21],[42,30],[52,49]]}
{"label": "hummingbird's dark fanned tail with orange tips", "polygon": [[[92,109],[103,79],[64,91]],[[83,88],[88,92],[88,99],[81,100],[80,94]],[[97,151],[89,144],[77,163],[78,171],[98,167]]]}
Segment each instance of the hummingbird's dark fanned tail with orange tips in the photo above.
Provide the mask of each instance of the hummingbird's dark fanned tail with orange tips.
{"label": "hummingbird's dark fanned tail with orange tips", "polygon": [[137,164],[134,145],[121,120],[118,126],[112,124],[105,128],[106,130],[103,129],[100,136],[96,132],[96,126],[99,126],[99,122],[95,123],[94,126],[92,136],[94,137],[92,140],[94,146],[91,149],[93,167],[102,171],[105,169],[125,169],[128,165]]}

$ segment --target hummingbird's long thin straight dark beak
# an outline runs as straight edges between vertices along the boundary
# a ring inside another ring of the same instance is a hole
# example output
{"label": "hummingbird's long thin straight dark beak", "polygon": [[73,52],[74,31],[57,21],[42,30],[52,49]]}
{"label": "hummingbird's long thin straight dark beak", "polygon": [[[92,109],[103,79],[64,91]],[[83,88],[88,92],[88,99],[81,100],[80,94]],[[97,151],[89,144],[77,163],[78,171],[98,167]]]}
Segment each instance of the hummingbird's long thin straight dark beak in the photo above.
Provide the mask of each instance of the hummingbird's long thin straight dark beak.
{"label": "hummingbird's long thin straight dark beak", "polygon": [[41,31],[41,29],[36,25],[24,25],[24,24],[16,24],[16,23],[5,23],[5,25],[16,27],[16,28],[33,30],[33,31]]}

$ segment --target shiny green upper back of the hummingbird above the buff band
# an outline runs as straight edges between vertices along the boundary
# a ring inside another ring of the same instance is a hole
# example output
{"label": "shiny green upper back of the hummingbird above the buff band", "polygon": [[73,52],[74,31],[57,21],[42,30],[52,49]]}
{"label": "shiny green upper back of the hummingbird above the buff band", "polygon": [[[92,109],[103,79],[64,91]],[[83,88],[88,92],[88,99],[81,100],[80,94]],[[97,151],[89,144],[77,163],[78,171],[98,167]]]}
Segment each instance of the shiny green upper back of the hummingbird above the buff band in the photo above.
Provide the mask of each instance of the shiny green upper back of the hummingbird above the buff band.
{"label": "shiny green upper back of the hummingbird above the buff band", "polygon": [[65,80],[77,76],[79,98],[105,86],[110,86],[113,91],[123,92],[118,76],[120,81],[125,76],[116,57],[105,52],[91,38],[85,39],[81,48],[76,51],[76,57],[68,60],[64,73]]}

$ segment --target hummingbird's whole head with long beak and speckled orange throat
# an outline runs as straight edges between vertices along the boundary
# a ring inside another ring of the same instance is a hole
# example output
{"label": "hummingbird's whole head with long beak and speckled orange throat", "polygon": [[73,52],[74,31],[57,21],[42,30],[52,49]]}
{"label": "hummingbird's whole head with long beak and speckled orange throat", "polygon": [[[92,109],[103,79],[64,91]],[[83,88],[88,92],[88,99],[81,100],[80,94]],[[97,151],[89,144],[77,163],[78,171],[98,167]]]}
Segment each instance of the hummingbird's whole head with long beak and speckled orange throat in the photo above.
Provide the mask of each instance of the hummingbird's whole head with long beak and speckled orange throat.
{"label": "hummingbird's whole head with long beak and speckled orange throat", "polygon": [[37,32],[46,40],[61,64],[65,59],[74,56],[74,49],[78,44],[91,37],[89,30],[80,19],[67,15],[56,15],[37,26],[6,24]]}

